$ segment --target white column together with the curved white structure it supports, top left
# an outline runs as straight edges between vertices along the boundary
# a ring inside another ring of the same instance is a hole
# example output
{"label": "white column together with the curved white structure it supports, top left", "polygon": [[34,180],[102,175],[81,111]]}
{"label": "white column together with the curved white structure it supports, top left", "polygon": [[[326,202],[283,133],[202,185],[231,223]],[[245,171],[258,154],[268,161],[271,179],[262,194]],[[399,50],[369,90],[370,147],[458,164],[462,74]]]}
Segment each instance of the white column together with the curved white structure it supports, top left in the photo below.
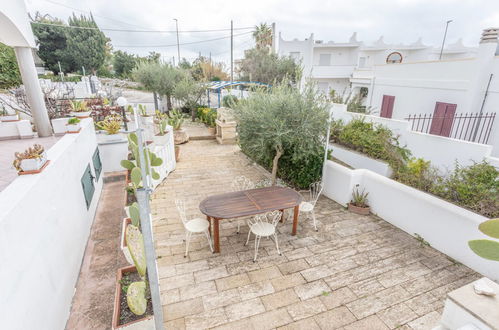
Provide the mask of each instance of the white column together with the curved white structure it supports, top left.
{"label": "white column together with the curved white structure it supports, top left", "polygon": [[14,48],[19,71],[39,136],[52,135],[47,108],[33,59],[35,38],[24,1],[5,1],[0,7],[0,42]]}

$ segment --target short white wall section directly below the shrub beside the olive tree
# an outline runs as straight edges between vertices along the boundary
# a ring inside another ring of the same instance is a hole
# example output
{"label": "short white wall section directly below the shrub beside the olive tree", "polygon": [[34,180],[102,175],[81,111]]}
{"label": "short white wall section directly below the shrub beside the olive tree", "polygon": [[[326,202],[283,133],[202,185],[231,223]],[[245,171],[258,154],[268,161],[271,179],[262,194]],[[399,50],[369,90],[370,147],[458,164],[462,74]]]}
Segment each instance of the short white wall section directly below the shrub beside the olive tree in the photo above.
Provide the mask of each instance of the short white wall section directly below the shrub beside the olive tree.
{"label": "short white wall section directly below the shrub beside the olive tree", "polygon": [[336,143],[330,144],[330,148],[331,155],[334,158],[339,159],[353,168],[371,170],[375,173],[386,176],[387,178],[392,175],[390,165],[382,160],[371,158],[358,151],[348,149]]}

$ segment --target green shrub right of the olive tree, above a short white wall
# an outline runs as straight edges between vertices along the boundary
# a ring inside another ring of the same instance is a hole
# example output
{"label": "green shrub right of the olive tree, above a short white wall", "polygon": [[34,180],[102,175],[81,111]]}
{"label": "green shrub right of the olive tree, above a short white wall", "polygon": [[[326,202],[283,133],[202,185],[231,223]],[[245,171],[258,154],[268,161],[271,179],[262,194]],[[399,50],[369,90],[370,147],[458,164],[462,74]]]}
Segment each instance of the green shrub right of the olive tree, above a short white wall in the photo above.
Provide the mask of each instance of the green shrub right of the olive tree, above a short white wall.
{"label": "green shrub right of the olive tree, above a short white wall", "polygon": [[331,141],[372,158],[384,160],[394,170],[403,166],[411,155],[409,149],[400,146],[398,136],[391,130],[364,119],[353,119],[346,125],[343,125],[342,121],[333,121]]}

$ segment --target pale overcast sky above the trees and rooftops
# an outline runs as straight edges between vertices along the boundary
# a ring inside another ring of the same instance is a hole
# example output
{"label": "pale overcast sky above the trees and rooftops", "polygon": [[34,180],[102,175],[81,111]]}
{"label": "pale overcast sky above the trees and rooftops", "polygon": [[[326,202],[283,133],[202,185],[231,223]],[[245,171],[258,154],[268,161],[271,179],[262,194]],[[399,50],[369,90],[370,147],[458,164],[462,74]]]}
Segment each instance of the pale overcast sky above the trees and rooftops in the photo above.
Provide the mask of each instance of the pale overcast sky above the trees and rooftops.
{"label": "pale overcast sky above the trees and rooftops", "polygon": [[[10,1],[10,0],[9,0]],[[251,48],[250,29],[261,22],[277,25],[284,39],[303,39],[314,33],[316,39],[347,41],[353,32],[367,43],[384,36],[386,43],[412,43],[419,37],[428,45],[440,45],[445,22],[447,43],[463,39],[476,46],[482,29],[499,27],[499,0],[26,0],[28,11],[48,13],[67,20],[74,11],[91,11],[101,28],[180,31],[229,29],[234,21],[234,54],[242,56]],[[176,44],[175,33],[135,33],[104,31],[114,49],[146,55],[160,52],[165,60],[177,56],[177,48],[157,47]],[[180,43],[224,38],[229,31],[180,33]],[[147,46],[147,47],[132,47]],[[230,39],[182,45],[181,57],[193,60],[198,53],[213,59],[230,59]]]}

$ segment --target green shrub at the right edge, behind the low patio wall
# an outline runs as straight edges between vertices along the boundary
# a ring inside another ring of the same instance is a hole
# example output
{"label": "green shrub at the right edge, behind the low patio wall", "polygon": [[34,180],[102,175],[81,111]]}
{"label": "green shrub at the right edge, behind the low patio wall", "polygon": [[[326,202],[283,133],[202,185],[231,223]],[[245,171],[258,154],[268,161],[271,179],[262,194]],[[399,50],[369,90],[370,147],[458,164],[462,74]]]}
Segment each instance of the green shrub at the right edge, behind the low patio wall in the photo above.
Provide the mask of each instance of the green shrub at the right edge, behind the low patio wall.
{"label": "green shrub at the right edge, behind the low patio wall", "polygon": [[456,164],[448,176],[437,179],[431,192],[486,217],[499,216],[499,171],[485,161]]}

